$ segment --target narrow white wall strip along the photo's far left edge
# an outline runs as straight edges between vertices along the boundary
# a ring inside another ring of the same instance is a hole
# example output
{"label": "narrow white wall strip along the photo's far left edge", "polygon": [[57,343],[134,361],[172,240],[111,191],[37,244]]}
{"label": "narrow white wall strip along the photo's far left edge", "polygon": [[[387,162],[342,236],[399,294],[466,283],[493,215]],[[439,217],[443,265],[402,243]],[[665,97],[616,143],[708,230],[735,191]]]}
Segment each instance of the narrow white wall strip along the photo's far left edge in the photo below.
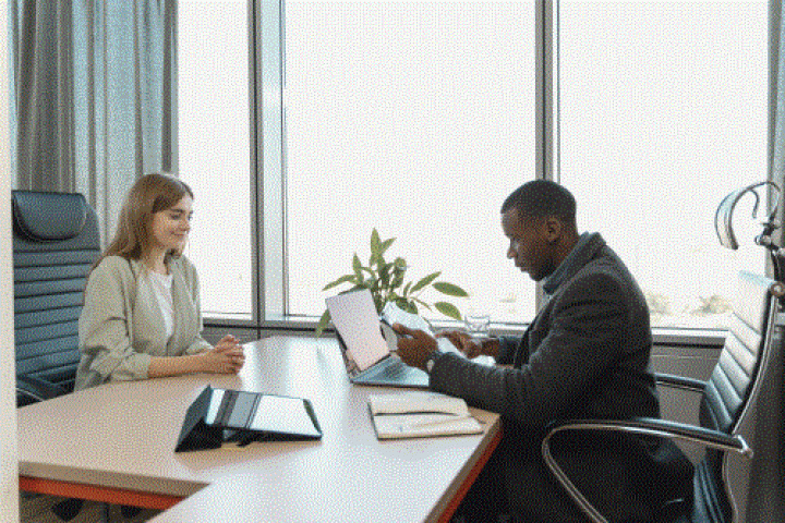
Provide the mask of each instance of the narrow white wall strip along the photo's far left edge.
{"label": "narrow white wall strip along the photo's far left edge", "polygon": [[[0,0],[0,27],[8,28]],[[0,521],[19,521],[16,398],[14,393],[13,285],[11,269],[11,166],[9,158],[8,31],[0,37]]]}

